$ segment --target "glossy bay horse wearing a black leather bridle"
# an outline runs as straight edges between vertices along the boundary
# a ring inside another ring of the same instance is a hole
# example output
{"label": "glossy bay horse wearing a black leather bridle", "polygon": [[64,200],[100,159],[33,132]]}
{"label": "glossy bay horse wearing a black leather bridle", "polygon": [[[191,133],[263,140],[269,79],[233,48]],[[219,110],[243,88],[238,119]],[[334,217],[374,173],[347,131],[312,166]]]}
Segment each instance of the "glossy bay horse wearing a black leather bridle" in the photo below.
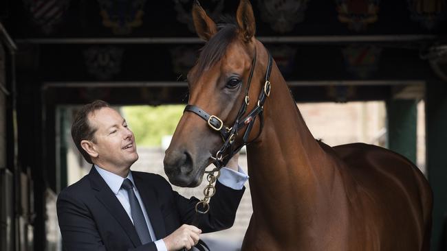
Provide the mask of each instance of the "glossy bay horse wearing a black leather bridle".
{"label": "glossy bay horse wearing a black leather bridle", "polygon": [[429,250],[433,195],[424,175],[382,147],[316,141],[254,38],[248,0],[235,23],[218,27],[198,3],[193,20],[207,43],[164,158],[172,184],[197,187],[208,165],[249,143],[253,213],[242,250]]}

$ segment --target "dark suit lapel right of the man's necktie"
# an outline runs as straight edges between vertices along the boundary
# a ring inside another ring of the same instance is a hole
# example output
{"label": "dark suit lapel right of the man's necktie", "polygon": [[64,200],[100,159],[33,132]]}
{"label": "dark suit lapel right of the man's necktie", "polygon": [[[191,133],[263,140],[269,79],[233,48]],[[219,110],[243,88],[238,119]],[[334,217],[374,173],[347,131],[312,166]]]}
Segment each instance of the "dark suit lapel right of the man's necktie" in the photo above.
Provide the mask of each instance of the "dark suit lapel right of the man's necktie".
{"label": "dark suit lapel right of the man's necktie", "polygon": [[158,200],[155,196],[153,188],[146,185],[144,180],[137,173],[132,172],[132,176],[135,186],[138,189],[138,193],[140,193],[141,199],[144,203],[144,207],[146,208],[147,215],[151,220],[155,237],[157,237],[157,239],[166,237],[166,228],[164,226],[162,211],[160,211],[160,206],[158,205]]}

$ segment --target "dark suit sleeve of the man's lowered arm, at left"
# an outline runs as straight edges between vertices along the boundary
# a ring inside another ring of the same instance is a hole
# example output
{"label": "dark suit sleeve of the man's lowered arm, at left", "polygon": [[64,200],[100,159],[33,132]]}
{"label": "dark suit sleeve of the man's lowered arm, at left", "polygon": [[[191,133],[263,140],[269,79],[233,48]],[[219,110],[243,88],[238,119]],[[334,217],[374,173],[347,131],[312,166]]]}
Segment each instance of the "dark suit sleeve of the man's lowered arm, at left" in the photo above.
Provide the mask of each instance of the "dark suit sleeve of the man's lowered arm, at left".
{"label": "dark suit sleeve of the man's lowered arm, at left", "polygon": [[[59,228],[65,251],[106,251],[96,222],[87,206],[66,191],[58,195],[56,203]],[[154,242],[146,243],[128,251],[157,251]]]}

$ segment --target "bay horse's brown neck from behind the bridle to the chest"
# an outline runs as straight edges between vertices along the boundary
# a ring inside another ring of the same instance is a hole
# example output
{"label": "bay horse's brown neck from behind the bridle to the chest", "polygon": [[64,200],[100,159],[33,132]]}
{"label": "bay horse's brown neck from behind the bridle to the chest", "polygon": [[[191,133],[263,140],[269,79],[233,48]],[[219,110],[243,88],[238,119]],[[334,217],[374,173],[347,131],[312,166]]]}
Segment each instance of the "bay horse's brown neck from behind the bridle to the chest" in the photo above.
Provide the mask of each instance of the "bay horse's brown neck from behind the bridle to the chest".
{"label": "bay horse's brown neck from behind the bridle to the chest", "polygon": [[248,147],[254,217],[272,217],[257,222],[277,226],[299,224],[296,215],[318,211],[322,194],[327,193],[321,184],[333,176],[333,169],[327,168],[331,160],[309,132],[276,64],[270,82],[260,141]]}

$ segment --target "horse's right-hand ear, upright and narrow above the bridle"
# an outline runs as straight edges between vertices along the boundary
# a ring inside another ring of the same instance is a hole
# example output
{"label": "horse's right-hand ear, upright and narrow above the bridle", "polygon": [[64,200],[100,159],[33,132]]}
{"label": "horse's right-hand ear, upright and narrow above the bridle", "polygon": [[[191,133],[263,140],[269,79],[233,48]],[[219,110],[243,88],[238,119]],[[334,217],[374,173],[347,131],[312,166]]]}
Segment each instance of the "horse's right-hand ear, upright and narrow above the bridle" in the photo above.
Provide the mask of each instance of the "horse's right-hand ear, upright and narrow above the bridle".
{"label": "horse's right-hand ear, upright and narrow above the bridle", "polygon": [[250,39],[254,36],[254,32],[256,30],[253,8],[250,1],[241,0],[239,2],[236,19],[243,40],[245,40],[246,42],[250,41]]}

